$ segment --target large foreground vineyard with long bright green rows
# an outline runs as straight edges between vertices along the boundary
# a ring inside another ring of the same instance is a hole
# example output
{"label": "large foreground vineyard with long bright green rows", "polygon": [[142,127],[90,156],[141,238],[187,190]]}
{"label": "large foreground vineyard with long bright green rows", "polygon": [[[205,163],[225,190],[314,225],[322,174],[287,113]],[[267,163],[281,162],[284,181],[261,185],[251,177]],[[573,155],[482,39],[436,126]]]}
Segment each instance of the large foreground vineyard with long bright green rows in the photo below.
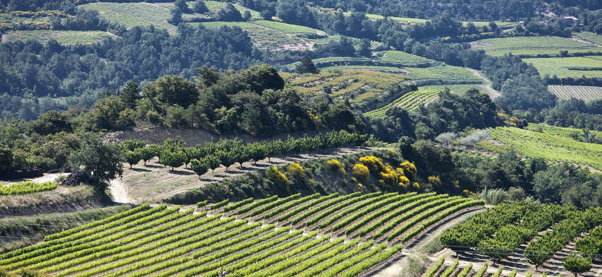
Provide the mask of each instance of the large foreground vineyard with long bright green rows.
{"label": "large foreground vineyard with long bright green rows", "polygon": [[222,269],[232,276],[356,276],[399,255],[400,247],[372,239],[408,241],[480,205],[435,193],[274,196],[209,209],[216,214],[143,204],[0,255],[0,266],[57,277],[217,276]]}

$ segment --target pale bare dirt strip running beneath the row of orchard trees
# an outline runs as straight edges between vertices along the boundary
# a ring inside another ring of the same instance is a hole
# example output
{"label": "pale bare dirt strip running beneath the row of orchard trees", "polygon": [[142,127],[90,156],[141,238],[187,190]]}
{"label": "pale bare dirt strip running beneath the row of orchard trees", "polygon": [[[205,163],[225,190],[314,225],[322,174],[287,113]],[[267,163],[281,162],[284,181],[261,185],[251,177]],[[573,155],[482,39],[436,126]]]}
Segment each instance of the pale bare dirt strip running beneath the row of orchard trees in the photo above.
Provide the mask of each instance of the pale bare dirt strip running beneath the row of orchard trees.
{"label": "pale bare dirt strip running beneath the row of orchard trees", "polygon": [[[232,177],[241,175],[254,170],[265,170],[270,166],[278,166],[292,161],[308,160],[311,158],[322,158],[333,155],[343,155],[362,151],[368,151],[372,148],[341,148],[341,149],[327,149],[324,154],[321,150],[314,151],[312,154],[303,153],[300,155],[289,154],[283,158],[282,155],[272,157],[268,162],[265,160],[259,161],[257,164],[252,162],[243,163],[243,168],[240,169],[240,164],[235,164],[229,167],[226,171],[225,167],[221,166],[215,170],[214,175],[211,174],[211,170],[205,173],[199,179],[190,168],[184,166],[178,167],[175,170],[171,168],[163,167],[158,163],[158,159],[155,158],[146,163],[140,161],[140,163],[134,165],[132,169],[129,169],[128,164],[124,165],[123,177],[121,179],[115,179],[111,182],[111,190],[116,195],[116,202],[131,201],[134,204],[143,201],[157,201],[160,199],[168,198],[169,196],[175,195],[187,191],[190,188],[197,188],[210,182],[220,181],[226,177]],[[126,191],[126,195],[123,195],[123,191],[119,186],[122,186]],[[128,199],[129,198],[129,199]],[[117,201],[117,199],[120,199]]]}

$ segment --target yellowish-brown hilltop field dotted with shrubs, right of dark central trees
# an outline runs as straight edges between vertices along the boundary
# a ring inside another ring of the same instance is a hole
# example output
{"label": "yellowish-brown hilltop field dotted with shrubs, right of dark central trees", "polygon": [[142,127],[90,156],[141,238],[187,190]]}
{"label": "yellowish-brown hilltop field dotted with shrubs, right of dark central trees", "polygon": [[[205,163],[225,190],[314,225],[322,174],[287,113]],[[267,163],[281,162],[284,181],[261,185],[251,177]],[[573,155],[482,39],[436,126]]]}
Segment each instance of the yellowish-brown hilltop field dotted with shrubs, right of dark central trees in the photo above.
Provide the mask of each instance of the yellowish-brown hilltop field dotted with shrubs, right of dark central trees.
{"label": "yellowish-brown hilltop field dotted with shrubs, right of dark central trees", "polygon": [[340,73],[324,72],[315,75],[281,73],[287,80],[287,87],[294,87],[303,95],[323,92],[323,86],[330,86],[331,96],[337,100],[349,99],[359,103],[380,95],[386,89],[407,81],[408,76],[380,73],[369,70],[344,70]]}

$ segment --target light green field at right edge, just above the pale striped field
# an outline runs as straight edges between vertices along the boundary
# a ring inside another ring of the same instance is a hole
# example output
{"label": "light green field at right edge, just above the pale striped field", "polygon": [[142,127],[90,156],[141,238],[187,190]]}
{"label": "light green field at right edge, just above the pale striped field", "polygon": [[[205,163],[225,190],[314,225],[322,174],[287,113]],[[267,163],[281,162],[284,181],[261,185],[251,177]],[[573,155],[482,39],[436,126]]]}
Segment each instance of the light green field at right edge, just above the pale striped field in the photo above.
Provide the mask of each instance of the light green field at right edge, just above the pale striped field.
{"label": "light green field at right edge, just above the pale striped field", "polygon": [[[587,57],[566,58],[525,58],[525,63],[532,63],[539,75],[556,75],[579,77],[582,75],[602,78],[602,63],[600,60]],[[586,69],[586,70],[583,70]],[[588,70],[591,69],[591,70]]]}

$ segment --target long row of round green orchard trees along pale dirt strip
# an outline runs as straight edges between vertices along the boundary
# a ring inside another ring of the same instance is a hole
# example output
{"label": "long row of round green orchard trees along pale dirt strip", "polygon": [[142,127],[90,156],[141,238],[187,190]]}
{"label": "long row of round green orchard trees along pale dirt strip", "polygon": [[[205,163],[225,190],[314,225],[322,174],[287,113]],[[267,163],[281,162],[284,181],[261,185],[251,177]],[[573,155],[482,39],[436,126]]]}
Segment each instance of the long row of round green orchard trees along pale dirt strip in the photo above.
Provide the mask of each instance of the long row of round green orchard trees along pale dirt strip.
{"label": "long row of round green orchard trees along pale dirt strip", "polygon": [[226,170],[232,164],[243,163],[247,161],[257,161],[270,158],[274,155],[282,154],[284,156],[293,153],[298,155],[303,151],[315,151],[321,148],[324,151],[330,147],[339,147],[342,145],[361,146],[367,141],[367,135],[357,133],[350,134],[346,131],[332,131],[326,134],[308,136],[307,134],[299,139],[290,135],[286,140],[264,140],[255,143],[243,143],[240,139],[221,139],[218,142],[205,142],[204,145],[186,147],[186,143],[176,137],[167,139],[163,145],[146,145],[142,140],[126,140],[123,142],[123,157],[130,164],[138,164],[141,160],[151,160],[159,157],[159,163],[164,166],[175,167],[190,164],[191,169],[199,175],[205,174],[211,169],[217,169],[220,165],[225,166]]}

